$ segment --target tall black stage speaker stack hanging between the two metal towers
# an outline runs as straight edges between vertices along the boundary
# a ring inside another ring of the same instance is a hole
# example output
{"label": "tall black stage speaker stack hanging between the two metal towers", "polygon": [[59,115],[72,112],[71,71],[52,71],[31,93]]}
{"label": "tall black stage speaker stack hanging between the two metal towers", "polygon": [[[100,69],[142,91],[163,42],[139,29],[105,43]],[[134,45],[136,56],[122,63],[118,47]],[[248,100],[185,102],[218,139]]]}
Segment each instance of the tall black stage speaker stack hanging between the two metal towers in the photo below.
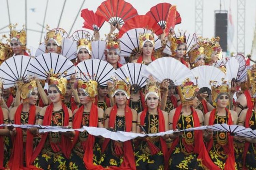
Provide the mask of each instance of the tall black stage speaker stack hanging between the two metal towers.
{"label": "tall black stage speaker stack hanging between the two metal towers", "polygon": [[220,37],[222,51],[227,51],[228,11],[215,11],[215,37]]}

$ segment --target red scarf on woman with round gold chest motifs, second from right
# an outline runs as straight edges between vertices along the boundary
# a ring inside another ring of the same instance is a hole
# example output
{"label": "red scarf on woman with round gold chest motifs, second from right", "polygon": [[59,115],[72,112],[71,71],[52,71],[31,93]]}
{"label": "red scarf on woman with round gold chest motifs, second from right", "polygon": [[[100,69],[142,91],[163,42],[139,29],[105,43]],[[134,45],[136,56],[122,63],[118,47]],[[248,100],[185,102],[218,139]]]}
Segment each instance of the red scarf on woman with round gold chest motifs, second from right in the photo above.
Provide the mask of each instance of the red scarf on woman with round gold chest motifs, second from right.
{"label": "red scarf on woman with round gold chest motifs, second from right", "polygon": [[[210,113],[210,118],[209,118],[209,125],[213,125],[214,124],[214,120],[215,120],[215,112],[216,109],[213,109],[212,112]],[[230,111],[226,108],[226,113],[228,113],[228,125],[232,125],[232,116],[230,114]],[[210,139],[209,142],[207,142],[207,151],[209,152],[212,148],[213,145],[213,138]],[[233,145],[233,137],[231,135],[228,135],[228,156],[225,162],[225,170],[234,170],[235,167],[235,158],[234,158],[234,145]]]}

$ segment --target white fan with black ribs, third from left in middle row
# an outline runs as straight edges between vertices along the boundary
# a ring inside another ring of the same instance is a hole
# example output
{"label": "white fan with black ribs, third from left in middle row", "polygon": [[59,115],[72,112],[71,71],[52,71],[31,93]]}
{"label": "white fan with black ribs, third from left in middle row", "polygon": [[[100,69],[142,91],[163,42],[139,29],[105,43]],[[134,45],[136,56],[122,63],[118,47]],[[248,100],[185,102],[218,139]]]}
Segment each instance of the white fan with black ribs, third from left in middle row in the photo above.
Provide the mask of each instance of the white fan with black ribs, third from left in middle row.
{"label": "white fan with black ribs, third from left in middle row", "polygon": [[77,74],[83,80],[95,80],[98,86],[106,86],[110,82],[111,75],[114,74],[114,67],[99,59],[90,59],[80,62],[76,66]]}

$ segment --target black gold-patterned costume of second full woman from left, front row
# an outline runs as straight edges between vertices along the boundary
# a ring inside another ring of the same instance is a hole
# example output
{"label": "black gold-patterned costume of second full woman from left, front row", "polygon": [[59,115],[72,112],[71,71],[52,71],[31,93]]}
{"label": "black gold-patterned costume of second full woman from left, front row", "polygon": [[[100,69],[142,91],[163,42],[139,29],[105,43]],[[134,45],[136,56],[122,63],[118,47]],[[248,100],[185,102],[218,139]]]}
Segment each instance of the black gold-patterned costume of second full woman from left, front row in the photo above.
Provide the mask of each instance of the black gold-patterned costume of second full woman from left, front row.
{"label": "black gold-patterned costume of second full woman from left, front row", "polygon": [[[64,116],[63,109],[57,112],[53,111],[51,126],[63,126]],[[62,154],[61,150],[54,152],[50,145],[50,142],[58,143],[60,141],[60,132],[49,132],[41,153],[34,160],[34,166],[42,169],[68,169],[68,159]],[[51,165],[51,167],[48,165]]]}

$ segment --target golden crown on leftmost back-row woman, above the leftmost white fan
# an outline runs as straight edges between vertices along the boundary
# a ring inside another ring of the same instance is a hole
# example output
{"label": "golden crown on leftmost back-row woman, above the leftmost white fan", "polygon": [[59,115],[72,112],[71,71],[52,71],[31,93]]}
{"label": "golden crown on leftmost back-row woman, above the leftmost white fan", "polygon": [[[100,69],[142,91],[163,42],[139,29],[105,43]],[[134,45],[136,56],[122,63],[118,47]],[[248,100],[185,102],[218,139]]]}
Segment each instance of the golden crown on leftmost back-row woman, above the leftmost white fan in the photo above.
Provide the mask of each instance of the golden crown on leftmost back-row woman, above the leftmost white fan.
{"label": "golden crown on leftmost back-row woman, above the leftmost white fan", "polygon": [[16,27],[17,27],[18,24],[10,24],[9,25],[9,28],[10,28],[10,43],[12,40],[17,40],[21,46],[21,48],[23,50],[27,50],[27,34],[26,34],[26,31],[25,31],[25,26],[23,26],[22,30],[21,31],[17,31],[16,30]]}

